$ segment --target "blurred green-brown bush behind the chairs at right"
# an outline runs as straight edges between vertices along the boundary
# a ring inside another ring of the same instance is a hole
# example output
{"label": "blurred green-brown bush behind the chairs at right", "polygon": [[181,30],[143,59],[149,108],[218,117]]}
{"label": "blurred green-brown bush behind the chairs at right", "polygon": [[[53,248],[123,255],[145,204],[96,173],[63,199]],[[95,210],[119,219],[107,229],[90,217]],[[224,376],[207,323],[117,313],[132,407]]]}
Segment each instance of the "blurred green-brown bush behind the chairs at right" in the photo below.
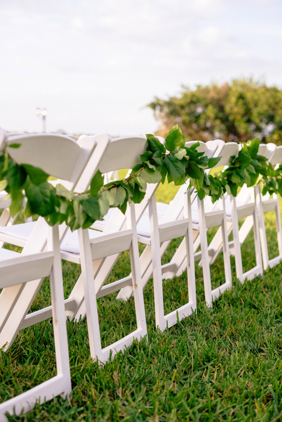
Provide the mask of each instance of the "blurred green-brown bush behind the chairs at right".
{"label": "blurred green-brown bush behind the chairs at right", "polygon": [[264,143],[282,144],[282,90],[252,78],[183,87],[179,97],[155,97],[148,106],[161,122],[156,135],[165,137],[178,123],[186,141],[246,142],[258,136]]}

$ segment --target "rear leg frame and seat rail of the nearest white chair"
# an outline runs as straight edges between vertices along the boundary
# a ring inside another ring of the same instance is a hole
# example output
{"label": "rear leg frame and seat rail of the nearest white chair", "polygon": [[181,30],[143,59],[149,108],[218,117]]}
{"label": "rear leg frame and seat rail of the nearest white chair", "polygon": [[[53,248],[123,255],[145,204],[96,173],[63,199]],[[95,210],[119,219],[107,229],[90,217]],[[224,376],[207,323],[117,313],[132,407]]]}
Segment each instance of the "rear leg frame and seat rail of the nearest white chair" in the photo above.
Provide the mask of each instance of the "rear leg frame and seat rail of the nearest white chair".
{"label": "rear leg frame and seat rail of the nearest white chair", "polygon": [[[45,223],[47,225],[47,223]],[[14,256],[14,255],[13,255]],[[1,252],[0,252],[1,257]],[[37,254],[19,254],[19,257],[0,260],[0,288],[14,286],[19,281],[50,275],[52,317],[57,375],[26,392],[0,404],[0,421],[8,421],[5,413],[20,414],[30,411],[36,402],[41,404],[57,395],[64,398],[71,393],[71,373],[68,358],[68,337],[65,323],[64,291],[58,226],[48,227],[47,251]]]}

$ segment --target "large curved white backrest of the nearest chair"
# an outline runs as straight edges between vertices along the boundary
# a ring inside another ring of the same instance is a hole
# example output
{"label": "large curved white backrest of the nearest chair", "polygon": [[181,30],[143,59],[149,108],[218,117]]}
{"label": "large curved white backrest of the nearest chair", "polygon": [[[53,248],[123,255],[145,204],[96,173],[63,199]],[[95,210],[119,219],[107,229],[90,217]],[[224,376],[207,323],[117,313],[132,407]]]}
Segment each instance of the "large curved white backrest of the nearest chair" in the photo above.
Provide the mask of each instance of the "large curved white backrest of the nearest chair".
{"label": "large curved white backrest of the nearest chair", "polygon": [[91,136],[82,135],[76,142],[65,135],[39,134],[8,137],[7,148],[18,164],[30,164],[46,173],[75,184],[84,170],[96,142]]}

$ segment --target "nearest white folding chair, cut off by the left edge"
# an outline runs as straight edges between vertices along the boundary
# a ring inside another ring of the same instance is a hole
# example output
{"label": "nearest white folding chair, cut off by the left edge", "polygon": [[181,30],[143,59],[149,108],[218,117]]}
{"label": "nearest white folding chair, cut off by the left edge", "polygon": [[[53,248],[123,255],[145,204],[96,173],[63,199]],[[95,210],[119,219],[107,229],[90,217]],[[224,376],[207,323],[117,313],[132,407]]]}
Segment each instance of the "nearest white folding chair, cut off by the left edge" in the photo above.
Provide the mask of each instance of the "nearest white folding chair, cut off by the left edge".
{"label": "nearest white folding chair, cut off by the left edge", "polygon": [[[83,149],[70,138],[51,135],[19,136],[17,143],[21,143],[18,149],[8,148],[9,154],[16,162],[34,165],[55,177],[60,176],[69,180],[76,178],[78,166],[84,167],[87,158],[85,153],[92,153],[95,147],[93,140],[90,144],[88,142],[87,148]],[[62,153],[65,154],[65,151],[68,151],[68,158],[64,159]],[[6,303],[1,303],[1,325],[5,323],[3,313],[7,311],[7,301],[9,302],[11,298],[14,300],[15,292],[22,291],[29,283],[33,283],[33,280],[50,276],[57,375],[1,403],[0,421],[8,420],[5,416],[6,412],[20,414],[22,410],[24,412],[31,410],[38,401],[42,403],[60,394],[65,397],[71,392],[58,226],[49,227],[45,220],[41,219],[38,230],[34,230],[33,237],[37,242],[29,243],[22,253],[0,249],[0,289],[2,289],[2,298],[5,297],[6,300]],[[42,239],[45,239],[46,245],[44,252],[42,252],[43,248],[41,250],[36,248],[36,243],[42,243]],[[20,312],[17,304],[13,311]],[[4,346],[3,350],[8,348],[8,344],[5,343],[5,340],[0,340],[0,347]]]}

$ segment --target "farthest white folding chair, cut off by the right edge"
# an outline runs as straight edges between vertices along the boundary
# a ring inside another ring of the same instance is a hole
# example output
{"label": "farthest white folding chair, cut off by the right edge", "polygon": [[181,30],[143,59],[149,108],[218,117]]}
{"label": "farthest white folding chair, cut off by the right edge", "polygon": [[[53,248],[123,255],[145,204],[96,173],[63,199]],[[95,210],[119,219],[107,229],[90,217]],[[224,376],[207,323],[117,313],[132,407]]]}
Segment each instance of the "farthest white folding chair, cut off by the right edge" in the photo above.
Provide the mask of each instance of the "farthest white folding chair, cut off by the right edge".
{"label": "farthest white folding chair, cut off by the right edge", "polygon": [[[266,144],[267,146],[269,144]],[[272,144],[273,145],[273,144]],[[269,157],[268,157],[269,158]],[[271,154],[269,162],[276,166],[282,163],[282,146],[277,146],[276,149]],[[260,223],[260,243],[261,243],[261,252],[263,255],[263,268],[266,270],[268,266],[273,268],[282,260],[282,229],[281,229],[281,218],[280,218],[280,207],[279,207],[279,197],[277,194],[273,194],[272,199],[269,198],[269,194],[262,196],[260,192],[260,185],[255,187],[255,198],[258,209],[258,218]],[[269,259],[268,255],[268,246],[266,240],[266,227],[264,222],[264,213],[268,211],[275,211],[276,216],[276,231],[277,231],[277,243],[279,254],[277,257]]]}

